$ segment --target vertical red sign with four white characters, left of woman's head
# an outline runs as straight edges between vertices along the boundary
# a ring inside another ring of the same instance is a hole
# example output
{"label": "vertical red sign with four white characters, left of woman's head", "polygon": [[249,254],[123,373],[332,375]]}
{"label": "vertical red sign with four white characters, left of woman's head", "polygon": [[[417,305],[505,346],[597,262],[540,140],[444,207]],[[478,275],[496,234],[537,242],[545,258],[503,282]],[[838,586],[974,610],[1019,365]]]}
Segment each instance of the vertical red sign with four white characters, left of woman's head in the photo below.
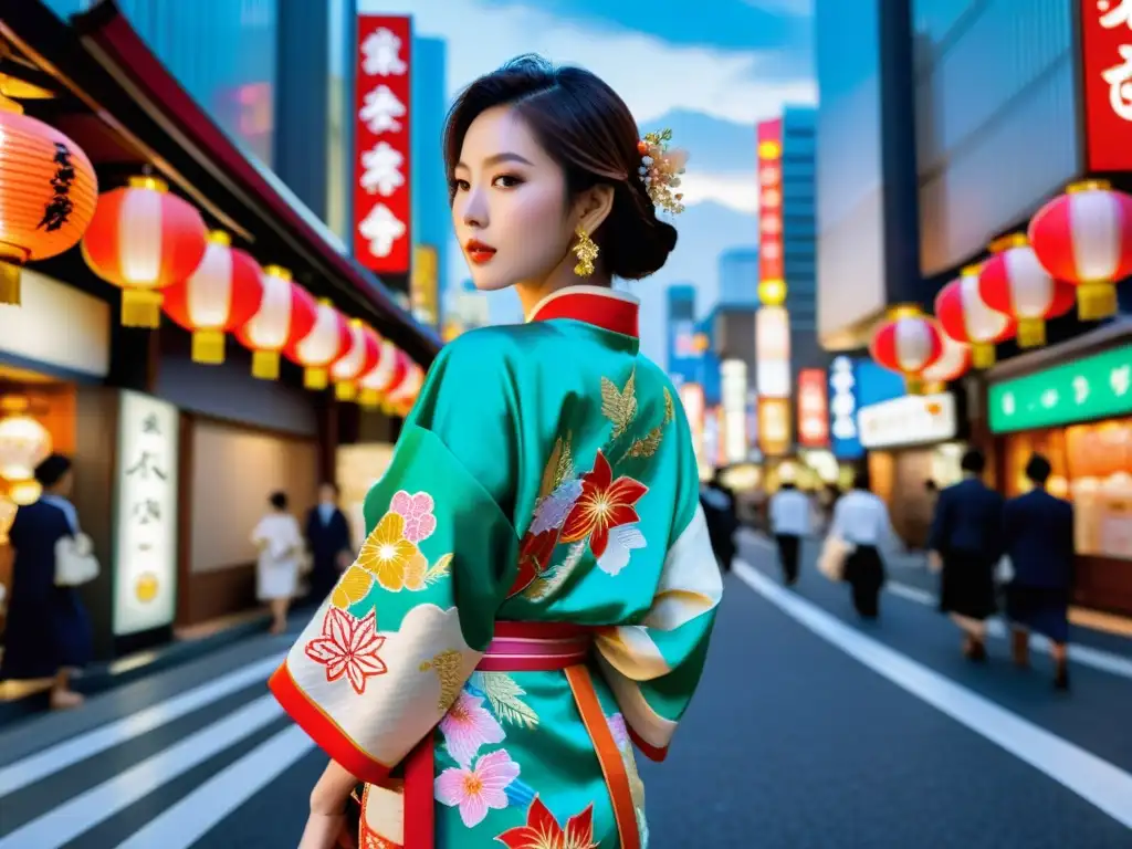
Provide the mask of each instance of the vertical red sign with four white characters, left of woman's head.
{"label": "vertical red sign with four white characters, left of woman's head", "polygon": [[378,274],[405,274],[412,256],[412,40],[410,17],[358,16],[354,256]]}

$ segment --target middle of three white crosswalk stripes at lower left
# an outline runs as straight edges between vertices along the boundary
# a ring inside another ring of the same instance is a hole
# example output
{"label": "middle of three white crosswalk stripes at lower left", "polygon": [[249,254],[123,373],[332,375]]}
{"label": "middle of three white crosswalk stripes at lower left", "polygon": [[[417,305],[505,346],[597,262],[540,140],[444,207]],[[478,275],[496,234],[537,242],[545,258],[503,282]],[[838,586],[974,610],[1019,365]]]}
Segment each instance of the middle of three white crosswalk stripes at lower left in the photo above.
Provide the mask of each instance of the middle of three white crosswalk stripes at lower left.
{"label": "middle of three white crosswalk stripes at lower left", "polygon": [[0,838],[0,849],[58,849],[282,715],[274,696],[260,696]]}

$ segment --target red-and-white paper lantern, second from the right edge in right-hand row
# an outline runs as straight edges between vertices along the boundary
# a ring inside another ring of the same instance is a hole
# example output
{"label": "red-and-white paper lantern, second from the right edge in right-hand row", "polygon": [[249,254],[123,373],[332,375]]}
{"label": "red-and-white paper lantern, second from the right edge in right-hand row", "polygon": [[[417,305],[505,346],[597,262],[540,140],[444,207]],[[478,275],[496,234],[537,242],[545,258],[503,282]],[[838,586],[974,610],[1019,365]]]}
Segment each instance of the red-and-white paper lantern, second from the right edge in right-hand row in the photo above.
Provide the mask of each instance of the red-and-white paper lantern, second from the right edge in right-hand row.
{"label": "red-and-white paper lantern, second from the right edge in right-hand row", "polygon": [[1044,345],[1046,320],[1069,312],[1077,290],[1049,275],[1022,233],[998,240],[990,250],[994,256],[979,272],[979,295],[1018,321],[1020,348]]}

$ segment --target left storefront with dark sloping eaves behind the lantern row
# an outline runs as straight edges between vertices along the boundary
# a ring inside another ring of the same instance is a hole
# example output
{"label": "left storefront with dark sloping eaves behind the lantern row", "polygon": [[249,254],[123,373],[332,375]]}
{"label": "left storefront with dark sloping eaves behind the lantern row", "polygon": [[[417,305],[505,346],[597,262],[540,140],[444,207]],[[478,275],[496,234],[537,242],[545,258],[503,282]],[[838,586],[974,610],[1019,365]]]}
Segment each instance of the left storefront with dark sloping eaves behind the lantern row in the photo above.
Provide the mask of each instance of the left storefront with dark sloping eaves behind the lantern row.
{"label": "left storefront with dark sloping eaves behind the lantern row", "polygon": [[[288,269],[311,305],[334,311],[343,335],[349,323],[365,323],[402,363],[431,361],[437,335],[345,256],[276,177],[243,155],[112,3],[63,23],[41,0],[25,0],[19,16],[3,24],[0,46],[10,59],[3,72],[20,75],[18,91],[44,93],[20,105],[85,152],[100,198],[143,175],[191,206],[203,230],[223,231],[256,264],[260,282],[267,268]],[[3,180],[0,168],[0,189]],[[119,228],[135,243],[138,232],[161,230],[164,245],[175,234],[155,217],[146,228],[122,216]],[[140,247],[152,259],[154,251]],[[341,443],[357,441],[360,430],[392,443],[396,432],[392,414],[336,397],[334,386],[323,388],[325,376],[320,386],[305,385],[303,366],[320,368],[311,366],[314,353],[299,351],[306,337],[290,340],[295,362],[284,359],[276,379],[254,376],[254,354],[237,341],[234,326],[220,340],[223,362],[205,365],[168,303],[160,327],[123,327],[128,288],[108,280],[75,245],[24,268],[22,305],[0,307],[0,398],[15,398],[10,403],[23,406],[12,414],[31,415],[52,447],[75,461],[72,500],[102,564],[98,578],[82,588],[100,658],[169,640],[174,626],[254,607],[248,539],[268,495],[286,491],[301,514],[319,481],[335,478]],[[291,295],[288,301],[284,315],[297,309]],[[311,321],[314,337],[323,323]],[[359,428],[360,420],[370,423]],[[361,483],[350,486],[357,501]],[[0,583],[5,564],[0,550]]]}

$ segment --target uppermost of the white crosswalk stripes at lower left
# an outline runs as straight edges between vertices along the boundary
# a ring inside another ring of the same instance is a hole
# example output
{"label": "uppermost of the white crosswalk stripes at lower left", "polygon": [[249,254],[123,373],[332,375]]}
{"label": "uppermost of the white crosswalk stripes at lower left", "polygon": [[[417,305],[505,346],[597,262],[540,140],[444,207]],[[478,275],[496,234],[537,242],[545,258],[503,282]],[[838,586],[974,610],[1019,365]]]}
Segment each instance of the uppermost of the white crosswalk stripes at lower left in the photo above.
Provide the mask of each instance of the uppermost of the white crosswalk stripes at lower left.
{"label": "uppermost of the white crosswalk stripes at lower left", "polygon": [[280,654],[252,663],[0,769],[0,799],[100,752],[119,746],[224,696],[250,687],[257,681],[266,681],[275,668],[283,662],[284,657]]}

